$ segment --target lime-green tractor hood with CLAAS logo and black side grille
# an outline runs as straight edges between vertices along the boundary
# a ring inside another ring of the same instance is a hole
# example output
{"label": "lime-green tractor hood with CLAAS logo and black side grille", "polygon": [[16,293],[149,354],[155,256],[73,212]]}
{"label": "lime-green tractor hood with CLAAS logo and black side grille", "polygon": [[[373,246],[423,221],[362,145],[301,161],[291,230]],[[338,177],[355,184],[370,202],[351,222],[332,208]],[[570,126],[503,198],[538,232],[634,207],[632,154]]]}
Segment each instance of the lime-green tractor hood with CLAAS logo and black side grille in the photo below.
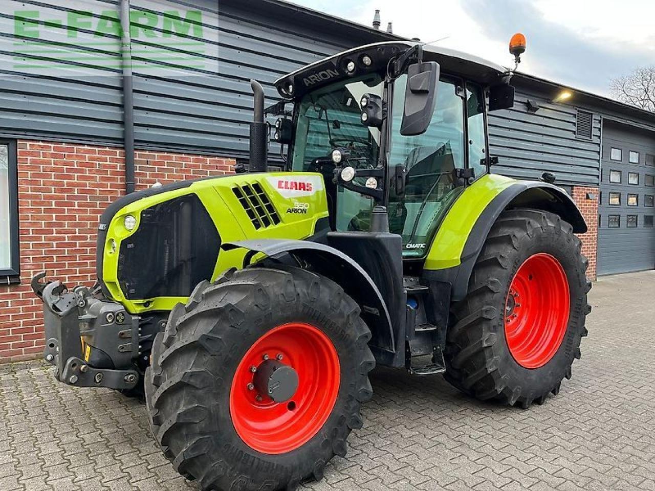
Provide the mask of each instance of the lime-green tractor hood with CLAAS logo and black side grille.
{"label": "lime-green tractor hood with CLAAS logo and black side grille", "polygon": [[327,214],[316,173],[208,177],[128,194],[100,219],[98,281],[128,312],[170,310],[202,280],[242,266],[245,252],[221,244],[305,239],[327,227]]}

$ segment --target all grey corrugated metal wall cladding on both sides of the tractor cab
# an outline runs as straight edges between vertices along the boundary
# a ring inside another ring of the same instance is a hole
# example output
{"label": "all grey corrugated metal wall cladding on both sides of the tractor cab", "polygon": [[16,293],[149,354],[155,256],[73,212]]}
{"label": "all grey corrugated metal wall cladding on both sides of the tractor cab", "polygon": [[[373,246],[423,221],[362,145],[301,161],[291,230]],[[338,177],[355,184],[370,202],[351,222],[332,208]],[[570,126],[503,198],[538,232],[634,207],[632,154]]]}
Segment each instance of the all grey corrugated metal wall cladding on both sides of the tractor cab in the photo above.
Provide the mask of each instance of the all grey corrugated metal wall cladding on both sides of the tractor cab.
{"label": "all grey corrugated metal wall cladding on both sides of the tractor cab", "polygon": [[[0,135],[120,145],[118,1],[4,4]],[[276,16],[275,6],[265,12],[264,4],[132,0],[137,147],[245,156],[251,78],[262,82],[272,103],[272,82],[280,75],[339,50],[388,39],[332,21],[310,25],[299,18],[311,16],[307,12]],[[541,106],[537,113],[527,113],[527,98]],[[495,172],[534,178],[548,170],[558,183],[597,185],[598,113],[593,121],[593,138],[578,139],[572,105],[549,103],[519,87],[514,109],[489,118],[491,153],[500,158]]]}

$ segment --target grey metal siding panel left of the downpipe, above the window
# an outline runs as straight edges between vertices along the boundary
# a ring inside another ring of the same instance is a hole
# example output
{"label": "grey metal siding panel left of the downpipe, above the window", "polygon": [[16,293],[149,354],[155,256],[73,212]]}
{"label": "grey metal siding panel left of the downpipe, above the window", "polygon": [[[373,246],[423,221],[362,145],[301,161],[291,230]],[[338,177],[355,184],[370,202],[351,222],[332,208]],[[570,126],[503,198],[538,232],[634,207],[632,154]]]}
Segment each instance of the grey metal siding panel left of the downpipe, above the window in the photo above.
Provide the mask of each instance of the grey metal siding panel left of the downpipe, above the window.
{"label": "grey metal siding panel left of the downpipe, above the window", "polygon": [[[72,31],[62,22],[75,10],[98,12],[92,14],[98,21],[108,9],[116,9],[115,2],[3,2],[0,135],[120,143],[119,39],[94,29]],[[39,24],[26,12],[37,12]]]}

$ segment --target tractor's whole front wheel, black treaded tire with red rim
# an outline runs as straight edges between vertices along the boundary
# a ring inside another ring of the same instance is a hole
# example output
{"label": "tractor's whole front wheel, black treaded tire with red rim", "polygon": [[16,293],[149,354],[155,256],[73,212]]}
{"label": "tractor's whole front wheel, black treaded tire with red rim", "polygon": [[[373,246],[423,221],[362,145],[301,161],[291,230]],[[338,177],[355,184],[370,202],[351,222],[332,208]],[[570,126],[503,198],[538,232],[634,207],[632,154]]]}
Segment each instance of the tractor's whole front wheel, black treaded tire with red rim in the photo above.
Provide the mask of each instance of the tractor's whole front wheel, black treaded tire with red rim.
{"label": "tractor's whole front wheel, black treaded tire with red rim", "polygon": [[360,308],[327,278],[281,268],[200,283],[155,338],[151,428],[203,490],[291,490],[321,479],[362,426],[375,360]]}

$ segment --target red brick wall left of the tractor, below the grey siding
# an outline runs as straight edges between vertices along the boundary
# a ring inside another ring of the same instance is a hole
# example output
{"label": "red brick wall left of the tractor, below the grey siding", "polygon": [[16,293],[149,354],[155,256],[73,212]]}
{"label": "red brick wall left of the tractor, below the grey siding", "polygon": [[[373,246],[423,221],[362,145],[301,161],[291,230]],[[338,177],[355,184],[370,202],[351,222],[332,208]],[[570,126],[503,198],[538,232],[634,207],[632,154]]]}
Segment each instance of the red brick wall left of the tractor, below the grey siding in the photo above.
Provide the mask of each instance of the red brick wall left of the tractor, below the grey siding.
{"label": "red brick wall left of the tractor, below the grey siding", "polygon": [[[137,151],[136,188],[231,173],[233,160]],[[20,285],[0,286],[0,362],[43,352],[41,301],[31,277],[47,271],[68,285],[95,281],[96,227],[124,194],[124,153],[112,147],[18,142]]]}

